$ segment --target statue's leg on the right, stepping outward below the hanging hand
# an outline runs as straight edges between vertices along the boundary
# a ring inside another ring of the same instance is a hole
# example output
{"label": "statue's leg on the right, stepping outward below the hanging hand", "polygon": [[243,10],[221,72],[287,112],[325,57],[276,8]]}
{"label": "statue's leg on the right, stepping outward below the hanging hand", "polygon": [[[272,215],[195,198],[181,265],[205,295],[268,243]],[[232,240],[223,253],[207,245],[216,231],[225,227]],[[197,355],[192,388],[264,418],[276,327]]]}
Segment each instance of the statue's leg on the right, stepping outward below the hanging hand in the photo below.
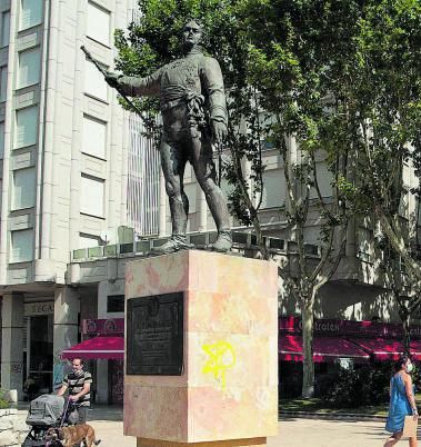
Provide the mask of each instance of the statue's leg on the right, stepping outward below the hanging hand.
{"label": "statue's leg on the right, stepping outward below the hanging hand", "polygon": [[208,141],[192,139],[191,162],[209,209],[218,229],[218,239],[211,246],[217,251],[229,251],[232,246],[227,199],[217,183],[217,170],[212,159],[212,146]]}

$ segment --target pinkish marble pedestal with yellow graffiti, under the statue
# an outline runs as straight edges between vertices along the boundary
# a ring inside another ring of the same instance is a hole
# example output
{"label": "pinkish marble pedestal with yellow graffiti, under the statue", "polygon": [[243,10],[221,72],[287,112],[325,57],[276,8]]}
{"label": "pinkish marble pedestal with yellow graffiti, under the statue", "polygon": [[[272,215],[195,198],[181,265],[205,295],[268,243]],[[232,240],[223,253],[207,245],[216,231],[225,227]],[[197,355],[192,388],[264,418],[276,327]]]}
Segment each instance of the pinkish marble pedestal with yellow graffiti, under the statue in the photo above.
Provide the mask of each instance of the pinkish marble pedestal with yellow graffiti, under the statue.
{"label": "pinkish marble pedestal with yellow graffiti, under the statue", "polygon": [[124,377],[138,446],[263,446],[278,427],[273,262],[184,250],[128,262],[126,300],[184,292],[181,376]]}

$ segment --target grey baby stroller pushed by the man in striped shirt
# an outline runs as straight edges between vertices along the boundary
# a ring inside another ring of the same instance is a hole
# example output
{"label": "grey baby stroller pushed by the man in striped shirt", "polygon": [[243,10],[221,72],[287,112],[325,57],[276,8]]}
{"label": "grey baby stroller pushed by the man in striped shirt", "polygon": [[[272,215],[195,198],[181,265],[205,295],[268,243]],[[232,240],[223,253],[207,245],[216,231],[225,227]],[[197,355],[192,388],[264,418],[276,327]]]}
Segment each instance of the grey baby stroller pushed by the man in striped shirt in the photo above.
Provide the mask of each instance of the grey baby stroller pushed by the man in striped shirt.
{"label": "grey baby stroller pushed by the man in striped shirt", "polygon": [[70,425],[69,415],[72,407],[69,400],[62,396],[41,395],[29,404],[27,424],[31,429],[26,437],[22,447],[50,447],[61,446],[60,441],[48,441],[46,439],[47,430],[51,427],[60,428]]}

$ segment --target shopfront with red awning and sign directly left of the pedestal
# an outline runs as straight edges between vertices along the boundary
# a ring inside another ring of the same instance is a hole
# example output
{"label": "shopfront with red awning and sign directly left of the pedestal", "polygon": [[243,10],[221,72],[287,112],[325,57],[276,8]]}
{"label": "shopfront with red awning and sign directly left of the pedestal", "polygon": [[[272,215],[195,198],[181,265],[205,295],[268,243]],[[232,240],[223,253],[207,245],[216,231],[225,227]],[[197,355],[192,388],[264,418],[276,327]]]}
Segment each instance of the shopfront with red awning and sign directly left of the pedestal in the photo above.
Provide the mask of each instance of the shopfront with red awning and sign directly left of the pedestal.
{"label": "shopfront with red awning and sign directly left of the pedestal", "polygon": [[[108,401],[114,405],[123,403],[124,386],[124,318],[89,319],[82,321],[84,340],[66,349],[61,357],[72,359],[80,357],[88,360],[87,369],[97,377],[96,360],[108,362]],[[93,400],[96,395],[93,381]]]}

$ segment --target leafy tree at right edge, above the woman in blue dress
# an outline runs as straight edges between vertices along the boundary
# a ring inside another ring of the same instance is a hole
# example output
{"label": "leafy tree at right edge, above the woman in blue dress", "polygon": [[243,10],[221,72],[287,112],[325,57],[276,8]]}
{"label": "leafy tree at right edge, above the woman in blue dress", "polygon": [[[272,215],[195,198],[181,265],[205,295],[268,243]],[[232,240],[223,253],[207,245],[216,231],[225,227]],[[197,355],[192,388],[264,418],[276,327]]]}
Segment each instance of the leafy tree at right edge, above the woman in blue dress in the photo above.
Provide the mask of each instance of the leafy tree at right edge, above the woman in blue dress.
{"label": "leafy tree at right edge, above the woman in blue dress", "polygon": [[[410,203],[420,202],[420,187],[408,181],[421,172],[421,3],[365,0],[358,11],[347,64],[333,62],[328,88],[340,105],[338,129],[351,130],[358,161],[353,207],[378,220],[387,239],[381,257],[409,352],[409,318],[421,304],[419,205]],[[401,265],[409,292],[402,290]]]}

